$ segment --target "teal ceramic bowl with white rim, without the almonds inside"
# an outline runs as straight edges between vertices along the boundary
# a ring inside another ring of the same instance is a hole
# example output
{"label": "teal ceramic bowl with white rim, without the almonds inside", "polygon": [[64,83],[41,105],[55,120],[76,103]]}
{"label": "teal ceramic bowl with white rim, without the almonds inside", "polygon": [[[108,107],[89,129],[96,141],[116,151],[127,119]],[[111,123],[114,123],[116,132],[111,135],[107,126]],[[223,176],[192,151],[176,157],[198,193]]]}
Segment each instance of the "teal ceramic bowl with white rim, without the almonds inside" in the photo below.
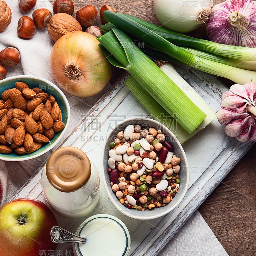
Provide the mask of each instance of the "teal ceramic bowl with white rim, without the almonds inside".
{"label": "teal ceramic bowl with white rim, without the almonds inside", "polygon": [[34,87],[39,87],[43,90],[43,92],[47,92],[50,95],[52,95],[56,99],[56,102],[58,103],[61,109],[62,122],[65,124],[65,127],[62,131],[57,132],[49,143],[43,143],[42,148],[40,148],[39,150],[33,153],[24,154],[24,155],[18,155],[15,151],[13,151],[11,154],[0,153],[0,159],[5,161],[24,161],[24,160],[29,160],[37,156],[43,155],[48,150],[56,146],[56,144],[58,144],[58,142],[63,137],[65,131],[68,128],[68,123],[70,119],[70,107],[69,107],[66,96],[64,95],[63,92],[61,92],[61,90],[55,84],[49,82],[44,78],[37,77],[37,76],[27,76],[27,75],[12,76],[9,78],[5,78],[0,81],[0,95],[5,90],[14,88],[14,85],[16,82],[26,83],[31,89]]}

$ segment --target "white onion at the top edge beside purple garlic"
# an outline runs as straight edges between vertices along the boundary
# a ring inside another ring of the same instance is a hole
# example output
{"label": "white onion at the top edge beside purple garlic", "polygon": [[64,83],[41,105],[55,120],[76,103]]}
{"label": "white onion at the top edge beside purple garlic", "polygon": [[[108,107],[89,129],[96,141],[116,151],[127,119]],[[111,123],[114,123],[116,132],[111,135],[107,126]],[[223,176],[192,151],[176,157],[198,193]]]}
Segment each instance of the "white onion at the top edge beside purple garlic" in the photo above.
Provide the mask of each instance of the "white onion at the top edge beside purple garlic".
{"label": "white onion at the top edge beside purple garlic", "polygon": [[154,9],[157,19],[165,28],[186,33],[206,23],[212,0],[154,0]]}

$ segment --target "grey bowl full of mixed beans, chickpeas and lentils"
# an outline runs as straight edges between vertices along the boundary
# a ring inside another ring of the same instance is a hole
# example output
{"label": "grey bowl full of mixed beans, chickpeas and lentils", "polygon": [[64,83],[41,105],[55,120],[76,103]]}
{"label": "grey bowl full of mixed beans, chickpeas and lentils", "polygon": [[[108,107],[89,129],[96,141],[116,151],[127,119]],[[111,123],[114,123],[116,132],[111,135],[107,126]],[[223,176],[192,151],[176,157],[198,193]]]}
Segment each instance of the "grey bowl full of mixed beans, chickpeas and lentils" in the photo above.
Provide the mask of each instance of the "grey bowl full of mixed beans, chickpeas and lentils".
{"label": "grey bowl full of mixed beans, chickpeas and lentils", "polygon": [[181,204],[189,184],[188,161],[166,126],[133,117],[117,124],[107,138],[102,151],[103,183],[120,212],[150,220]]}

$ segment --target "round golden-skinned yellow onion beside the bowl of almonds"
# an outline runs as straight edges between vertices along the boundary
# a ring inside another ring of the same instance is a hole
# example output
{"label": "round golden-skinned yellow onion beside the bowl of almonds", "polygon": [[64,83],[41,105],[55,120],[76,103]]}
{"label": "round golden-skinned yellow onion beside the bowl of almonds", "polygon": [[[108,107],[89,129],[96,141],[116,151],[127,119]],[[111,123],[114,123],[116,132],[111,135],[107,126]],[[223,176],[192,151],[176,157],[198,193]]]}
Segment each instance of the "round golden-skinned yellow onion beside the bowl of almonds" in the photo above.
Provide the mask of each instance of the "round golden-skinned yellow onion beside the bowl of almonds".
{"label": "round golden-skinned yellow onion beside the bowl of almonds", "polygon": [[76,31],[61,36],[52,47],[53,78],[67,92],[78,97],[103,90],[111,77],[111,66],[99,42],[89,33]]}

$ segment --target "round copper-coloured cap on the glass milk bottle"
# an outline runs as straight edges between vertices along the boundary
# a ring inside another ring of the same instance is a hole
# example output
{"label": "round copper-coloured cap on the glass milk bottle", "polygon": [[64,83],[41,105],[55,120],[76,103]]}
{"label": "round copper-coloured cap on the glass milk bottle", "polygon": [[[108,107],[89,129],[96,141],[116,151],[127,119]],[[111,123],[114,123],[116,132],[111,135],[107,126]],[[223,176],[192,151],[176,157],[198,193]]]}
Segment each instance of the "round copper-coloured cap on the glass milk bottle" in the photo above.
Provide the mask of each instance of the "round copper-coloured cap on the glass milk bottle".
{"label": "round copper-coloured cap on the glass milk bottle", "polygon": [[62,192],[72,192],[89,180],[91,163],[78,148],[59,148],[47,160],[46,176],[54,188]]}

